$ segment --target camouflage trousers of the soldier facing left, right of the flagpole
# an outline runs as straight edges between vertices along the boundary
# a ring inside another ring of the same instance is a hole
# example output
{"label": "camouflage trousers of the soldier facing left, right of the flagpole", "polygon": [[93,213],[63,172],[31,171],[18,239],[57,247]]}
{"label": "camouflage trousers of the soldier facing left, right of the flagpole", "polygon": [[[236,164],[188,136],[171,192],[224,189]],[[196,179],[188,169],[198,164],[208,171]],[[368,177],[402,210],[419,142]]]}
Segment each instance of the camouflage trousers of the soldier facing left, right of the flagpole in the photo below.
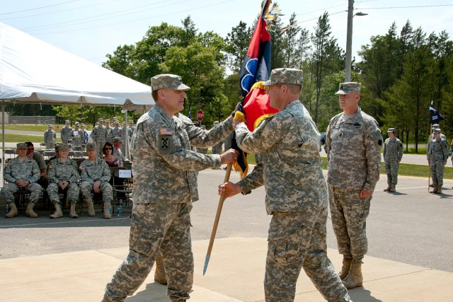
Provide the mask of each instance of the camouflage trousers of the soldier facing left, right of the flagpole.
{"label": "camouflage trousers of the soldier facing left, right of the flagpole", "polygon": [[327,208],[273,214],[264,278],[265,301],[294,301],[303,268],[327,301],[350,301],[327,257]]}

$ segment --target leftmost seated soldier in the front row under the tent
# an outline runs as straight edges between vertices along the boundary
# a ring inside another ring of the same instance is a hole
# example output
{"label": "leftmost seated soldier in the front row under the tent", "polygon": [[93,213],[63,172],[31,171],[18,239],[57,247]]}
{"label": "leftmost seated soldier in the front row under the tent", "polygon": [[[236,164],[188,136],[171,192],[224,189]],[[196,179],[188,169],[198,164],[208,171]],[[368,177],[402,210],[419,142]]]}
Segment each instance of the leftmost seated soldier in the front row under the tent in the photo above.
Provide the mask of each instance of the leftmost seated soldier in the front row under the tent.
{"label": "leftmost seated soldier in the front row under the tent", "polygon": [[1,193],[4,194],[9,207],[9,212],[5,216],[8,218],[17,216],[14,193],[18,190],[27,190],[30,192],[30,200],[25,215],[36,218],[38,214],[33,211],[33,207],[42,193],[42,187],[37,183],[40,179],[40,168],[36,161],[27,157],[27,144],[17,144],[16,152],[18,156],[11,159],[3,171],[3,178],[8,182],[1,188]]}

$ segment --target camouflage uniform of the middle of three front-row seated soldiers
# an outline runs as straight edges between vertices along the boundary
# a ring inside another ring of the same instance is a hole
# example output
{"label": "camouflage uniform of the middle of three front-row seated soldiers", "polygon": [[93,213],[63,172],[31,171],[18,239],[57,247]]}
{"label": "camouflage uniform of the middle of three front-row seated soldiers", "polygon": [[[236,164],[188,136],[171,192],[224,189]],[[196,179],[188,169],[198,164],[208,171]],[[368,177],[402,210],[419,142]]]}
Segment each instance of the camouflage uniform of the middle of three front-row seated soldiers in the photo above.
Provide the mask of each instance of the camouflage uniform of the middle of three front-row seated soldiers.
{"label": "camouflage uniform of the middle of three front-row seated soldiers", "polygon": [[49,169],[47,170],[50,184],[47,187],[47,194],[52,204],[59,204],[59,182],[68,181],[67,185],[67,197],[71,204],[76,204],[79,200],[79,181],[80,175],[77,170],[77,164],[75,161],[68,158],[67,161],[62,161],[60,158],[55,158],[49,163]]}

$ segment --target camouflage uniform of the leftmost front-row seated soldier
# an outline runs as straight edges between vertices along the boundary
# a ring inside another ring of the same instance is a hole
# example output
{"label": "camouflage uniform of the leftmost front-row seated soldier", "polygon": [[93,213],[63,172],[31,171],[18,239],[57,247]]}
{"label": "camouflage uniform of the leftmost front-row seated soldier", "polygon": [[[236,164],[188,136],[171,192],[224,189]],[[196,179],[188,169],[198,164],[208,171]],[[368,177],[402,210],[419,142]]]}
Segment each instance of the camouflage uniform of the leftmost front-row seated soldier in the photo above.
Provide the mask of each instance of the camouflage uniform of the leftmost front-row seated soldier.
{"label": "camouflage uniform of the leftmost front-row seated soldier", "polygon": [[22,161],[17,157],[11,159],[3,171],[3,178],[8,182],[1,188],[7,204],[14,202],[14,193],[20,190],[19,186],[14,183],[16,180],[28,180],[30,182],[25,190],[30,192],[31,203],[35,204],[40,199],[42,187],[37,183],[40,179],[40,168],[33,159],[28,157]]}

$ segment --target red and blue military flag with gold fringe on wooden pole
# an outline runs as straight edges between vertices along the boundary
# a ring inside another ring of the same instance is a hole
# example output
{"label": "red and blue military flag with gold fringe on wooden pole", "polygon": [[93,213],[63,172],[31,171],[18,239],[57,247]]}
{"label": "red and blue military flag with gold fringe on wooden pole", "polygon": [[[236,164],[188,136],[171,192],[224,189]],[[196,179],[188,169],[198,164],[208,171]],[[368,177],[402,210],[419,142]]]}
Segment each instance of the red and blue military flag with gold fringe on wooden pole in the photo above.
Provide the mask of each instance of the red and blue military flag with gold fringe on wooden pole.
{"label": "red and blue military flag with gold fringe on wooden pole", "polygon": [[[246,122],[248,129],[253,130],[265,117],[274,115],[277,109],[270,107],[270,98],[265,88],[260,84],[270,76],[270,27],[274,19],[280,15],[277,6],[272,6],[272,0],[263,1],[260,18],[248,45],[246,57],[243,60],[239,79],[241,83],[242,102],[235,120]],[[231,147],[239,150],[239,157],[234,163],[234,170],[239,171],[241,178],[248,173],[247,153],[241,151],[236,144],[236,136],[231,141]]]}

